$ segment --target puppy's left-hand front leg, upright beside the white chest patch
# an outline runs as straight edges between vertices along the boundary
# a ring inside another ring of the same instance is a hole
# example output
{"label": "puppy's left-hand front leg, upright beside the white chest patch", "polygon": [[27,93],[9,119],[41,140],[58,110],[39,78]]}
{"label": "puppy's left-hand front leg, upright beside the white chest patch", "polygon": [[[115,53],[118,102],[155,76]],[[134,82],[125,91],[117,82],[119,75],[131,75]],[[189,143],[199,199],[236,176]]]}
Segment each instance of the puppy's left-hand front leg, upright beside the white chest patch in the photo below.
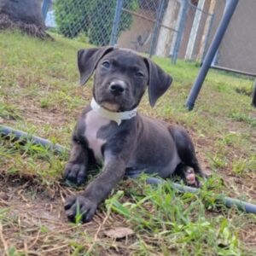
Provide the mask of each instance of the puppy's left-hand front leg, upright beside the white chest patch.
{"label": "puppy's left-hand front leg, upright beside the white chest patch", "polygon": [[65,167],[64,178],[71,183],[84,183],[87,166],[87,149],[79,140],[73,138],[71,154],[67,166]]}

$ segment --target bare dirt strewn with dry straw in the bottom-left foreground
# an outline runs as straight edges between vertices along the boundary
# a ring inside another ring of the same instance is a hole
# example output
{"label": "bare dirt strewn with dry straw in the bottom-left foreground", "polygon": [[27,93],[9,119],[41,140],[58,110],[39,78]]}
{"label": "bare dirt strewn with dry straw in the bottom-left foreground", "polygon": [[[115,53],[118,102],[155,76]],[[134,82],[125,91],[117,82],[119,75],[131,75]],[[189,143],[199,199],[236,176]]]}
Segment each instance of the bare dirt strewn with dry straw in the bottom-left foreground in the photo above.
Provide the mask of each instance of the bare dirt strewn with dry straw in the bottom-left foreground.
{"label": "bare dirt strewn with dry straw in the bottom-left foreground", "polygon": [[[79,247],[90,252],[97,247],[97,253],[102,252],[100,255],[129,254],[125,245],[131,245],[134,236],[115,241],[105,235],[114,227],[125,227],[124,219],[109,218],[98,211],[89,224],[68,223],[63,201],[74,193],[71,189],[58,184],[52,188],[55,189],[53,192],[29,179],[3,176],[0,177],[0,188],[0,217],[3,220],[2,234],[0,232],[3,251],[0,249],[0,254],[13,246],[16,252],[27,255],[70,255],[76,250],[79,252]],[[102,245],[98,247],[102,240],[113,242],[113,249],[104,253]]]}

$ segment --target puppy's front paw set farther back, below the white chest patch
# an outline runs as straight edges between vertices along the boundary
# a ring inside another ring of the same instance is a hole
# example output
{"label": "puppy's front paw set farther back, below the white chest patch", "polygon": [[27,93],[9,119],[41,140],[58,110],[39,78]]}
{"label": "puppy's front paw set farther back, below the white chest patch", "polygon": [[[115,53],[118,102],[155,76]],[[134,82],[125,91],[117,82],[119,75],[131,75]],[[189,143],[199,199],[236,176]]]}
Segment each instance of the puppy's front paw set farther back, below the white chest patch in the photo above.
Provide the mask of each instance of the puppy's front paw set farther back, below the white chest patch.
{"label": "puppy's front paw set farther back, below the white chest patch", "polygon": [[86,178],[85,166],[76,163],[67,163],[64,171],[64,178],[67,182],[81,184]]}

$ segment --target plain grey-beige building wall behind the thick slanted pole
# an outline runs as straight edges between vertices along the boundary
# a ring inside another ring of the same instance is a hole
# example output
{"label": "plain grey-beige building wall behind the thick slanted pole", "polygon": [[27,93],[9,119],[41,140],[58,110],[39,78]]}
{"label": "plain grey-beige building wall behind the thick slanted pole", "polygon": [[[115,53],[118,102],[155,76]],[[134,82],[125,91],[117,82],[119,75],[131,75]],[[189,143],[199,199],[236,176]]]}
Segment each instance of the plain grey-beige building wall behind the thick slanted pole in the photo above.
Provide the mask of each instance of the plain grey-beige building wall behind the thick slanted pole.
{"label": "plain grey-beige building wall behind the thick slanted pole", "polygon": [[[223,15],[225,0],[217,0],[211,40]],[[256,73],[256,1],[239,1],[218,49],[216,65]],[[210,40],[210,42],[211,42]]]}

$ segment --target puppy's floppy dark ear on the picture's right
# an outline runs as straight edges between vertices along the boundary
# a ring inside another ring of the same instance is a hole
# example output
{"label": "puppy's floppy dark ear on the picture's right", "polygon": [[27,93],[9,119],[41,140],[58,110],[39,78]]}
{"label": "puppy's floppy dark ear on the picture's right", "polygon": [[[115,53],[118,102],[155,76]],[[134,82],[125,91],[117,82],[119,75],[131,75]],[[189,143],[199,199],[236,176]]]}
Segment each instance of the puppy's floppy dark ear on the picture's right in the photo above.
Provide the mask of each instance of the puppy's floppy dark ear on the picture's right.
{"label": "puppy's floppy dark ear on the picture's right", "polygon": [[148,96],[151,107],[162,96],[172,84],[172,77],[154,64],[148,58],[144,58],[148,67]]}

